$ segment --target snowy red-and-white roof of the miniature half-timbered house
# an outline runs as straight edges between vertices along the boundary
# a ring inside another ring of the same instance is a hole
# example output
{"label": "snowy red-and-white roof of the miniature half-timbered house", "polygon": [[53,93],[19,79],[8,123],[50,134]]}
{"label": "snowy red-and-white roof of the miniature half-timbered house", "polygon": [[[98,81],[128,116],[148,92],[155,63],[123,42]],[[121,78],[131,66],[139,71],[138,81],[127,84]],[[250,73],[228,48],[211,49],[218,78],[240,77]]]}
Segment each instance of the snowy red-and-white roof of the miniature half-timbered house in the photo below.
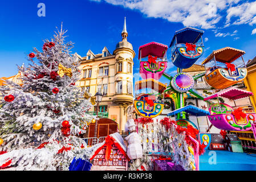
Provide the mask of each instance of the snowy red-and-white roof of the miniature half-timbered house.
{"label": "snowy red-and-white roof of the miniature half-timbered house", "polygon": [[[113,133],[111,135],[109,135],[113,141],[115,146],[121,151],[121,153],[125,156],[125,158],[127,158],[128,160],[130,160],[126,154],[127,152],[127,147],[124,144],[124,139],[123,137],[121,137],[121,135],[119,133]],[[107,146],[107,143],[105,143],[105,140],[97,147],[94,149],[94,151],[92,151],[90,160],[94,159],[95,156],[97,154],[99,154],[99,152],[103,149],[103,147]]]}

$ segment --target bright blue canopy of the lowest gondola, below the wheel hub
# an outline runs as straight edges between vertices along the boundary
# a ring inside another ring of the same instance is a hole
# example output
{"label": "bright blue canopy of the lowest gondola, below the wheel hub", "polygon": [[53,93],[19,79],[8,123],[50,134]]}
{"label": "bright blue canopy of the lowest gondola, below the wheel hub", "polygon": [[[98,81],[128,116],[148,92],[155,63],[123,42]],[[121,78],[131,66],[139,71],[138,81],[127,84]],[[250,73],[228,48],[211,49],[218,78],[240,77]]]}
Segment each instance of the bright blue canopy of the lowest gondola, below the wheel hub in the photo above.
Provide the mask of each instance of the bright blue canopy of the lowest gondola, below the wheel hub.
{"label": "bright blue canopy of the lowest gondola, below the wheel hub", "polygon": [[182,111],[192,114],[192,115],[196,115],[196,116],[205,116],[205,115],[210,115],[210,112],[204,109],[200,109],[199,107],[193,106],[193,105],[187,105],[185,107],[181,107],[180,109],[174,110],[170,113],[168,113],[167,115],[175,115],[178,113],[181,113]]}

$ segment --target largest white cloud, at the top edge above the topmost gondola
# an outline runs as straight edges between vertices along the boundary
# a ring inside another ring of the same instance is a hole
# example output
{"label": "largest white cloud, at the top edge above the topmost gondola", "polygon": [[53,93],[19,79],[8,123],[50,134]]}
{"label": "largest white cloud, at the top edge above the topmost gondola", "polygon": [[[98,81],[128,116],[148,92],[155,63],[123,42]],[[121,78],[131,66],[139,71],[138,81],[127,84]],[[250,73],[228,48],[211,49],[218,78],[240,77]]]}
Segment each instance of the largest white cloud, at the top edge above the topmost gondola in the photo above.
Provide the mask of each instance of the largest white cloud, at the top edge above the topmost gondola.
{"label": "largest white cloud, at the top edge above the topmost gondola", "polygon": [[237,3],[237,0],[105,0],[139,10],[148,17],[164,18],[169,22],[181,22],[184,26],[215,28],[222,15],[218,12]]}

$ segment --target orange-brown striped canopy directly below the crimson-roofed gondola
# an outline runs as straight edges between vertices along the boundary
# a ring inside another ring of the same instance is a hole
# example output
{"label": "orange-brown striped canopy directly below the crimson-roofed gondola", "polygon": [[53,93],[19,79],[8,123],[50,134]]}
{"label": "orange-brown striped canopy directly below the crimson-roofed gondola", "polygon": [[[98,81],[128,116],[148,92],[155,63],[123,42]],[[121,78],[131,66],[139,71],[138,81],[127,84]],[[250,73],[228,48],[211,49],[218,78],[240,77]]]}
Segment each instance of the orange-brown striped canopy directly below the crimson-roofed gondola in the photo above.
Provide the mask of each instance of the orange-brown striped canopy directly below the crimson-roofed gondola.
{"label": "orange-brown striped canopy directly below the crimson-roofed gondola", "polygon": [[135,82],[135,91],[145,89],[145,88],[151,88],[156,92],[162,93],[166,89],[166,85],[162,84],[159,81],[154,80],[153,78],[148,78],[146,80]]}

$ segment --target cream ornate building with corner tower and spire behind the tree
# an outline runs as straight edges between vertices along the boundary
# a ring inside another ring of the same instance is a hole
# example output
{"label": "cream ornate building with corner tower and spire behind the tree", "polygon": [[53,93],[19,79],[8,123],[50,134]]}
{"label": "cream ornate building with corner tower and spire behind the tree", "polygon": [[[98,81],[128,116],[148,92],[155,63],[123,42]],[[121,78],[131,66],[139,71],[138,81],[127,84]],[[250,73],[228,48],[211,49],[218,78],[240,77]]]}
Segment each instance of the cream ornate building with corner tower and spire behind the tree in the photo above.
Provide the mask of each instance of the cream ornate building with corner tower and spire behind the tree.
{"label": "cream ornate building with corner tower and spire behind the tree", "polygon": [[[119,131],[124,130],[127,121],[127,106],[133,104],[133,51],[132,44],[127,41],[126,21],[121,32],[122,40],[110,53],[104,47],[102,53],[94,54],[91,50],[82,57],[76,53],[82,70],[81,79],[76,82],[82,92],[94,96],[96,92],[103,94],[99,104],[99,112],[117,122]],[[90,111],[95,111],[96,106]]]}

